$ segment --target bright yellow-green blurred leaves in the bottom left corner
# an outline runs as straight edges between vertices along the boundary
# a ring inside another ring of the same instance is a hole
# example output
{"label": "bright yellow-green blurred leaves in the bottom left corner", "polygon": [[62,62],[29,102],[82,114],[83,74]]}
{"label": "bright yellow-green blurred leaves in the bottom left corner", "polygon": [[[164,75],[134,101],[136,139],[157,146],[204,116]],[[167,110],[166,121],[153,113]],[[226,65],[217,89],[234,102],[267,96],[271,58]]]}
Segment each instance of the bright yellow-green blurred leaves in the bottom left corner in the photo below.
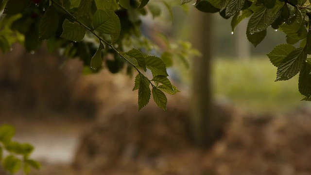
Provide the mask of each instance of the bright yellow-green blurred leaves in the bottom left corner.
{"label": "bright yellow-green blurred leaves in the bottom left corner", "polygon": [[[30,155],[34,147],[28,143],[19,143],[12,141],[15,135],[15,128],[8,124],[0,126],[0,162],[5,171],[10,174],[15,174],[22,169],[22,171],[29,175],[31,167],[35,169],[40,168],[40,163],[30,159]],[[9,154],[3,157],[3,151],[6,150]],[[22,157],[22,158],[20,158]]]}

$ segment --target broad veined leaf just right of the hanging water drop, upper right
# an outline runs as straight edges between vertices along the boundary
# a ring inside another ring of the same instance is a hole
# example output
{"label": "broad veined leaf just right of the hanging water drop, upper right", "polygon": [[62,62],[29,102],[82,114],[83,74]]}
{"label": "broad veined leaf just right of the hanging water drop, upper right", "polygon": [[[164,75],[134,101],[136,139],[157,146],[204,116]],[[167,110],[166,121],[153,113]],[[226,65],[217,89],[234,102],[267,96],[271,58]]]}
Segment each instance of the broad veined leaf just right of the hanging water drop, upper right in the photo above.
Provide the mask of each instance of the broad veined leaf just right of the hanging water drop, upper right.
{"label": "broad veined leaf just right of the hanging water drop, upper right", "polygon": [[253,16],[248,21],[248,33],[258,33],[267,29],[272,16],[271,12],[272,11],[267,9],[265,6],[260,6],[260,8],[254,12]]}

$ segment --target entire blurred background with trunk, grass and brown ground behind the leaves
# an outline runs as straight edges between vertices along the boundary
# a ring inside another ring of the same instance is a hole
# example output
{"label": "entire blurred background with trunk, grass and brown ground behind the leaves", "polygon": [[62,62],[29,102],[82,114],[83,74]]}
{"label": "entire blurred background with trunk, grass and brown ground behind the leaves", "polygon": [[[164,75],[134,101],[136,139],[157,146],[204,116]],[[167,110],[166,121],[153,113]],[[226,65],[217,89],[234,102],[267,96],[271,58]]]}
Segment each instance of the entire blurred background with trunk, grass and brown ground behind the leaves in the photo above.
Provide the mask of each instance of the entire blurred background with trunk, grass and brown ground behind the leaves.
{"label": "entire blurred background with trunk, grass and brown ground behind the leaves", "polygon": [[79,59],[45,47],[0,55],[0,124],[34,144],[43,167],[32,174],[311,175],[310,103],[300,101],[297,76],[274,82],[266,56],[285,35],[271,29],[255,48],[247,21],[232,33],[230,20],[183,8],[173,20],[165,10],[142,19],[147,35],[188,40],[202,53],[187,57],[189,68],[173,60],[181,92],[167,112],[153,102],[138,112],[125,72],[83,75]]}

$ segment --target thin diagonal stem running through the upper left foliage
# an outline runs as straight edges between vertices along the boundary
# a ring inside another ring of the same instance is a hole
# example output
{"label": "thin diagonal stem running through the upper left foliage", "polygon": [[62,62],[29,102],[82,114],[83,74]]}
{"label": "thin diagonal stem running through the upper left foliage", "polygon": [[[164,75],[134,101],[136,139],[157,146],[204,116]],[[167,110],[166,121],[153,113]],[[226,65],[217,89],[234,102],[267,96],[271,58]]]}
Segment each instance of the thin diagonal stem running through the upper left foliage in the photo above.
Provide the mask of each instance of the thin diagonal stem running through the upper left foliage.
{"label": "thin diagonal stem running through the upper left foliage", "polygon": [[149,80],[148,77],[146,77],[132,62],[130,62],[122,53],[120,53],[111,43],[109,43],[108,41],[104,40],[101,36],[97,35],[93,30],[91,30],[89,27],[87,27],[85,24],[83,24],[82,22],[80,22],[77,18],[75,18],[65,7],[63,7],[62,5],[59,5],[57,2],[55,2],[55,0],[51,0],[52,3],[54,3],[55,5],[57,5],[59,8],[61,8],[62,10],[64,10],[64,12],[66,12],[71,18],[73,18],[76,22],[78,22],[80,25],[82,25],[83,27],[85,27],[89,32],[91,32],[94,36],[96,36],[100,42],[104,42],[107,46],[109,46],[112,50],[114,50],[116,53],[118,53],[124,60],[126,60],[131,66],[133,66],[138,73],[143,76],[146,80],[149,81],[149,83],[151,84],[151,86],[153,88],[155,88],[155,85],[151,82],[151,80]]}

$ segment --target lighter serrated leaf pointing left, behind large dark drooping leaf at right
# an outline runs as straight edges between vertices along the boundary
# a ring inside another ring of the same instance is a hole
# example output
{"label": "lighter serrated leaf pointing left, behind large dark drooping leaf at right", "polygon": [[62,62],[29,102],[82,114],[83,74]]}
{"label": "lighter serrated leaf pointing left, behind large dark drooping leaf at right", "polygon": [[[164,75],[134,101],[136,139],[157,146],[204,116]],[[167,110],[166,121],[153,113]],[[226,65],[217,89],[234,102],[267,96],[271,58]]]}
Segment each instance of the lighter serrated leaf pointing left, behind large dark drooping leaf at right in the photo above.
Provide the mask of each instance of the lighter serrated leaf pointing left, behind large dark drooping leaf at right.
{"label": "lighter serrated leaf pointing left, behind large dark drooping leaf at right", "polygon": [[281,44],[276,46],[270,53],[267,54],[271,63],[278,67],[285,57],[294,51],[296,48],[291,44]]}

